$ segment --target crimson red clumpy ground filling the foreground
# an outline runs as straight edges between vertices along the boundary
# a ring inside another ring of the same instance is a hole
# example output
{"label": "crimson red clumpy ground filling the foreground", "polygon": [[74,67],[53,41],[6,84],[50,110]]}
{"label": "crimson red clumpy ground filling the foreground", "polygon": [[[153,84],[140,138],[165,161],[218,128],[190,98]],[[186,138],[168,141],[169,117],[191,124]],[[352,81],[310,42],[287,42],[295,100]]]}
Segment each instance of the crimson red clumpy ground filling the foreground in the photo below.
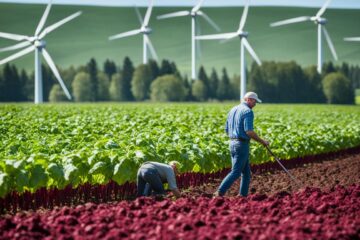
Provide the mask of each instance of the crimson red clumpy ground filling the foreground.
{"label": "crimson red clumpy ground filling the foreground", "polygon": [[360,185],[248,198],[139,198],[0,219],[0,239],[360,239]]}

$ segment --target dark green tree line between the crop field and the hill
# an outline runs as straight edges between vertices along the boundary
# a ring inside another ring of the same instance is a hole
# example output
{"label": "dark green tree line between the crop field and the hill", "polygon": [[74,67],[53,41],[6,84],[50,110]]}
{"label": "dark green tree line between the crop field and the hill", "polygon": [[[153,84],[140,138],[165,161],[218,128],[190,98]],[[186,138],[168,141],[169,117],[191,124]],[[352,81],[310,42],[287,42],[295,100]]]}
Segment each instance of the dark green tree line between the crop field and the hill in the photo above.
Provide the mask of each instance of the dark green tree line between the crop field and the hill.
{"label": "dark green tree line between the crop field and the hill", "polygon": [[[208,74],[199,68],[196,80],[182,75],[174,62],[134,66],[129,57],[122,65],[106,60],[100,67],[92,58],[86,65],[59,69],[75,102],[96,101],[224,101],[238,100],[240,77],[230,77],[226,68]],[[43,65],[44,101],[69,101],[51,70]],[[325,63],[320,75],[315,66],[302,68],[296,62],[253,64],[247,71],[248,90],[268,103],[353,104],[360,88],[360,67]],[[6,64],[0,72],[0,101],[33,101],[34,73]]]}

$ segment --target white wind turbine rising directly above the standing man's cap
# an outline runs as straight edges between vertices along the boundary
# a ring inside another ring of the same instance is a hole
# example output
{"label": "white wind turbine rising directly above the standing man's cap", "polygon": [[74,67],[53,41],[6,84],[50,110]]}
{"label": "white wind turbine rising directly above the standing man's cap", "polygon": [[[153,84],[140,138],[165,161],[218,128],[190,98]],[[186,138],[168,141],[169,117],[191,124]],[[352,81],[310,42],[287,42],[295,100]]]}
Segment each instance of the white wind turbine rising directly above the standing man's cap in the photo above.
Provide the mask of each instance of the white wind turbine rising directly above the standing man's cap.
{"label": "white wind turbine rising directly above the standing man's cap", "polygon": [[247,40],[249,33],[243,31],[249,10],[249,3],[250,0],[247,0],[245,3],[244,11],[240,19],[239,28],[236,32],[204,35],[204,36],[196,37],[197,40],[219,40],[219,39],[230,40],[236,37],[240,38],[240,99],[242,99],[246,93],[245,49],[249,52],[251,57],[257,62],[257,64],[261,65],[261,61],[259,57],[256,55],[255,51],[250,46],[250,43]]}

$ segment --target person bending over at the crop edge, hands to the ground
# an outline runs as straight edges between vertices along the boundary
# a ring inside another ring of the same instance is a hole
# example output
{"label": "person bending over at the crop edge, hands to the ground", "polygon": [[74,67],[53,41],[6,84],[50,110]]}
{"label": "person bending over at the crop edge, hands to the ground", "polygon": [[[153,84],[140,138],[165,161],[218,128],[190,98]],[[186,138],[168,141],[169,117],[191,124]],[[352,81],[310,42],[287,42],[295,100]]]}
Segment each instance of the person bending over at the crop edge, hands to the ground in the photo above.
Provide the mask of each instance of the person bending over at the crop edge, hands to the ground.
{"label": "person bending over at the crop edge, hands to the ground", "polygon": [[163,183],[168,183],[169,189],[176,198],[181,197],[176,185],[175,175],[178,173],[179,163],[171,161],[169,164],[158,162],[143,163],[137,173],[137,196],[164,195]]}

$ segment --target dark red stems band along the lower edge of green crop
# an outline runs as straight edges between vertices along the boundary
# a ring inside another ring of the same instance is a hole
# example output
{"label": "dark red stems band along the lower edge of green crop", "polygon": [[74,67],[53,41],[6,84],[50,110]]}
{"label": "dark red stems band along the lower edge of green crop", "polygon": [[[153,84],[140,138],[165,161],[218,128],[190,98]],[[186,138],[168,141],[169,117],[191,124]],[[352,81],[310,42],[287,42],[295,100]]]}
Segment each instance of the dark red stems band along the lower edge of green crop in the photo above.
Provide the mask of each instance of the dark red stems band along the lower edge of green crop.
{"label": "dark red stems band along the lower edge of green crop", "polygon": [[[337,156],[360,153],[360,146],[341,150],[338,152],[324,153],[312,156],[306,156],[291,160],[282,161],[285,167],[291,169],[293,167],[323,161]],[[252,166],[254,173],[268,172],[280,169],[277,162],[268,162],[260,165]],[[229,169],[223,169],[215,173],[184,173],[178,177],[178,185],[180,188],[188,188],[190,186],[198,186],[211,182],[214,179],[221,179],[226,176]],[[73,205],[84,202],[109,202],[123,199],[134,198],[136,193],[135,183],[126,183],[118,185],[110,182],[106,185],[84,184],[77,188],[67,186],[65,189],[46,189],[42,188],[35,193],[25,192],[19,194],[12,192],[5,198],[0,198],[0,214],[4,212],[17,212],[19,210],[36,210],[42,208],[52,208],[54,206]]]}

